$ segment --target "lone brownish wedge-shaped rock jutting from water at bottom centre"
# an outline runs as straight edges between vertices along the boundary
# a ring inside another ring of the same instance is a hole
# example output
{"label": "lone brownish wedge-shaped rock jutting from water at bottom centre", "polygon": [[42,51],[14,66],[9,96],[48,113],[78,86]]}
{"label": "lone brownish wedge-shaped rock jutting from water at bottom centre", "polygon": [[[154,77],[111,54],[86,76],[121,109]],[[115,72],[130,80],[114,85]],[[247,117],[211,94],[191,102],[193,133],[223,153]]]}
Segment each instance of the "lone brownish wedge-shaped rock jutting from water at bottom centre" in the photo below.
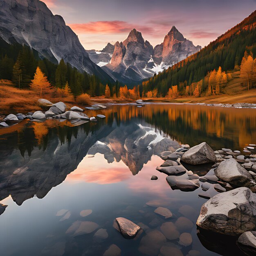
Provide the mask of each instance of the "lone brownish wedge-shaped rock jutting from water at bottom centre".
{"label": "lone brownish wedge-shaped rock jutting from water at bottom centre", "polygon": [[119,217],[115,220],[124,238],[134,238],[141,229],[138,225],[126,218]]}

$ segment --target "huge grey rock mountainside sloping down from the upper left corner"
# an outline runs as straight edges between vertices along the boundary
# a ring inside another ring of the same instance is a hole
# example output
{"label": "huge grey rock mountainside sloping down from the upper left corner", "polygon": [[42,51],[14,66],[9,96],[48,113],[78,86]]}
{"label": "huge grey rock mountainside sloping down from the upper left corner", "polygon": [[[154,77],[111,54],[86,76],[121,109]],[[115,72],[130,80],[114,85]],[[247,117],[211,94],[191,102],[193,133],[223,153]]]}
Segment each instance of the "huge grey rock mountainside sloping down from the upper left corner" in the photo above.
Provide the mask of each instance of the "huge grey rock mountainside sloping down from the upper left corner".
{"label": "huge grey rock mountainside sloping down from the upper left corner", "polygon": [[[57,63],[62,58],[81,72],[110,77],[92,62],[72,29],[59,15],[53,15],[39,0],[0,0],[0,37],[20,43]],[[111,79],[112,80],[112,79]]]}

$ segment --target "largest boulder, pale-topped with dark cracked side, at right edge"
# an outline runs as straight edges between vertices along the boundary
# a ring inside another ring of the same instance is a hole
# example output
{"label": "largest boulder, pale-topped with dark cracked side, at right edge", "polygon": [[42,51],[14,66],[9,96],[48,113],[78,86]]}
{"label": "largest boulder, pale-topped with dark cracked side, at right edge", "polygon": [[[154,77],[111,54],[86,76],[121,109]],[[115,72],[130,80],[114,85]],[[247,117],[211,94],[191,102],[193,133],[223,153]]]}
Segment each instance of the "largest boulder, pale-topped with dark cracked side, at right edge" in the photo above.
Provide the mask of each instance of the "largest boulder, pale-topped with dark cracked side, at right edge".
{"label": "largest boulder, pale-topped with dark cracked side, at right edge", "polygon": [[203,204],[199,227],[236,236],[256,229],[256,195],[242,187],[215,195]]}

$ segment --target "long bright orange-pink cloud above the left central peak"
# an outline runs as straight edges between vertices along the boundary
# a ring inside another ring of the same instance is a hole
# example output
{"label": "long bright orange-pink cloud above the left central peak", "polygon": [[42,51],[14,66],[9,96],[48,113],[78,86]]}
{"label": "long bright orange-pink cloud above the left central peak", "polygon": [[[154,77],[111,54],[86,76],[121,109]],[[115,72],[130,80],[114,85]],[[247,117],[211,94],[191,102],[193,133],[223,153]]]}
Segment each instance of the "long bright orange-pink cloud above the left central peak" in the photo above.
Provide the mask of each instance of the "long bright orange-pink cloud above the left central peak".
{"label": "long bright orange-pink cloud above the left central peak", "polygon": [[92,21],[87,23],[68,24],[74,31],[85,34],[122,34],[136,28],[138,31],[151,34],[155,30],[150,26],[141,26],[121,20]]}

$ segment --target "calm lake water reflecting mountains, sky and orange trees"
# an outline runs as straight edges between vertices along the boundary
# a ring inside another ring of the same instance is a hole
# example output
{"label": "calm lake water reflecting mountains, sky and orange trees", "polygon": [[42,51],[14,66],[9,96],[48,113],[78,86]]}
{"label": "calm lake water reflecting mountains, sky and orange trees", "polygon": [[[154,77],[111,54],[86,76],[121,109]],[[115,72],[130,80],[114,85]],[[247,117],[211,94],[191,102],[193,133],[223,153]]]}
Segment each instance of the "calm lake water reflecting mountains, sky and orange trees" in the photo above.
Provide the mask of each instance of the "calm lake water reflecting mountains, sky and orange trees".
{"label": "calm lake water reflecting mountains, sky and orange trees", "polygon": [[[198,197],[201,187],[172,190],[155,168],[164,162],[162,151],[181,144],[206,141],[214,150],[242,151],[256,142],[256,110],[147,104],[88,111],[97,114],[106,119],[81,126],[25,120],[0,129],[0,203],[8,205],[0,216],[1,255],[100,256],[112,244],[125,256],[244,255],[234,240],[197,231],[206,202]],[[210,168],[186,167],[200,176]],[[158,180],[150,180],[152,175]],[[154,213],[158,206],[170,209],[173,217]],[[85,211],[90,214],[83,217],[83,210],[92,213]],[[125,239],[113,227],[117,217],[139,223],[144,231]],[[81,222],[89,222],[90,230],[76,235]],[[165,222],[173,222],[180,234],[191,233],[192,244],[161,240]]]}

